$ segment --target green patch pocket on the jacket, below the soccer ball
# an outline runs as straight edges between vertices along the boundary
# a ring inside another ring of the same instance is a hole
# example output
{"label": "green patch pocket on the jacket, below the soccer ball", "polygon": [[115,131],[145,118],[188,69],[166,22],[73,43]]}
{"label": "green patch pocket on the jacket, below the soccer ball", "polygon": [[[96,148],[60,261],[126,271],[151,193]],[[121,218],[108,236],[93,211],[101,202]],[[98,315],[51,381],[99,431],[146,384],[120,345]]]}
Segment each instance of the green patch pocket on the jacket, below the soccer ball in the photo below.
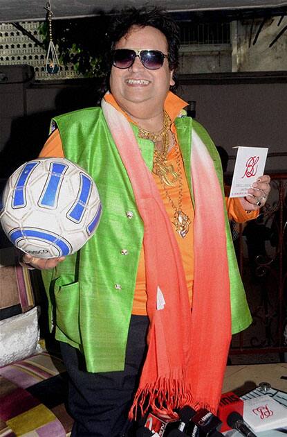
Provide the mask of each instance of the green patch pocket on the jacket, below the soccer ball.
{"label": "green patch pocket on the jacket, below the soccer ball", "polygon": [[55,281],[56,325],[71,341],[80,344],[79,282],[62,285],[62,278]]}

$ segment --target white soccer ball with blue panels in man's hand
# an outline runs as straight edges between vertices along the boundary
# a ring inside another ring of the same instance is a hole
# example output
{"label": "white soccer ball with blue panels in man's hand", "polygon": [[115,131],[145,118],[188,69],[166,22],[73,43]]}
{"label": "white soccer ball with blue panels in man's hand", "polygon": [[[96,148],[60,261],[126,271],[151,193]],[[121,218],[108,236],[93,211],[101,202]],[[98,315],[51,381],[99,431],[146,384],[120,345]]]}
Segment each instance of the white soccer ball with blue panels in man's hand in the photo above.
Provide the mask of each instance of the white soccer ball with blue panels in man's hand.
{"label": "white soccer ball with blue panels in man's hand", "polygon": [[8,179],[0,221],[17,248],[53,258],[84,246],[101,214],[97,187],[86,171],[65,158],[39,158]]}

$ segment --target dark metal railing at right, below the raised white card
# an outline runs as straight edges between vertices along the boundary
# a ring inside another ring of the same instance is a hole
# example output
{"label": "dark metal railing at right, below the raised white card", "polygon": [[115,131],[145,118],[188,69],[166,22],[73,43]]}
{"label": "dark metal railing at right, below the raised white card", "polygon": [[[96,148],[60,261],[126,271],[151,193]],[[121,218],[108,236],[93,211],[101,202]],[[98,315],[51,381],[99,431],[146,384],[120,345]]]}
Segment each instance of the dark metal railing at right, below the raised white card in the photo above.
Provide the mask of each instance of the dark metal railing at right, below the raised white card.
{"label": "dark metal railing at right, below the raised white card", "polygon": [[287,173],[271,175],[270,200],[234,241],[253,323],[233,336],[230,355],[287,352]]}

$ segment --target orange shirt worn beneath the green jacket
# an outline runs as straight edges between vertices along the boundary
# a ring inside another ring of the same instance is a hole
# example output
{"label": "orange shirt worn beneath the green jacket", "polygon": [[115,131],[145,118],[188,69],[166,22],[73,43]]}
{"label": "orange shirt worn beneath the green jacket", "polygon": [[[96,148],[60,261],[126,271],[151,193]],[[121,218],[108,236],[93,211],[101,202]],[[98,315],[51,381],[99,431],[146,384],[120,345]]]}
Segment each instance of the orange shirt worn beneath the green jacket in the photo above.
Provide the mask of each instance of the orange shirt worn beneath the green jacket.
{"label": "orange shirt worn beneath the green jacket", "polygon": [[[127,114],[125,114],[118,104],[115,102],[113,96],[111,94],[108,94],[105,96],[105,99],[111,103],[116,109],[120,110],[129,121],[131,119]],[[167,114],[169,114],[170,119],[172,120],[172,131],[176,135],[176,129],[174,126],[174,119],[182,110],[187,103],[185,103],[183,100],[178,98],[172,93],[169,93],[167,96],[167,99],[165,101],[165,110],[167,111]],[[177,139],[176,139],[177,140]],[[64,157],[64,152],[62,148],[62,142],[61,138],[59,136],[59,131],[55,130],[50,137],[48,137],[44,148],[42,149],[40,157]],[[172,148],[172,150],[169,152],[167,156],[167,164],[172,164],[174,166],[174,170],[178,171],[177,169],[177,162],[176,162],[176,151],[175,148]],[[183,158],[180,155],[180,170],[181,175],[183,179],[183,199],[182,199],[182,210],[189,216],[189,220],[191,221],[191,224],[189,225],[189,232],[183,239],[180,237],[180,235],[176,232],[176,229],[174,225],[172,225],[172,228],[174,229],[174,235],[176,237],[176,241],[178,243],[178,247],[180,250],[180,254],[183,261],[183,268],[185,271],[185,280],[187,282],[187,289],[189,293],[189,300],[192,305],[192,285],[193,285],[193,277],[194,277],[194,252],[193,252],[193,221],[194,221],[194,209],[192,207],[192,199],[189,193],[189,187],[187,185],[187,178],[185,176],[185,171],[183,167]],[[165,189],[163,187],[163,183],[160,182],[160,178],[152,173],[154,176],[154,180],[156,182],[156,185],[158,187],[158,191],[160,192],[160,196],[163,199],[163,203],[165,205],[165,209],[167,211],[167,215],[170,218],[170,221],[172,222],[174,220],[174,208],[171,205],[171,202],[167,198],[167,195],[165,194]],[[167,187],[167,186],[166,186]],[[174,187],[167,187],[169,197],[172,198],[172,201],[174,202],[174,205],[176,207],[178,206],[178,181]],[[239,199],[237,198],[225,198],[228,208],[228,216],[231,219],[234,219],[235,221],[241,223],[247,220],[250,220],[250,218],[254,218],[253,213],[247,214],[246,211],[244,211],[243,207],[241,206],[241,203]],[[144,248],[142,246],[142,250],[140,252],[140,260],[138,263],[138,273],[136,277],[136,289],[134,293],[133,298],[133,309],[132,314],[137,315],[146,315],[147,309],[147,293],[146,293],[146,282],[145,282],[145,254],[144,254]]]}

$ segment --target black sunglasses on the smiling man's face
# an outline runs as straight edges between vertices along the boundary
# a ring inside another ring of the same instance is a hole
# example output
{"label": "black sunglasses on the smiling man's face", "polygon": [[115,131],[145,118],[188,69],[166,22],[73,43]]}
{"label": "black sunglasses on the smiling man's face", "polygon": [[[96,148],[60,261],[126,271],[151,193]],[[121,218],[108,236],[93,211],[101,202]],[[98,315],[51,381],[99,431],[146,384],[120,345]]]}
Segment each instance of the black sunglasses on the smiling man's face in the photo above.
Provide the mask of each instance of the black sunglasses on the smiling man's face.
{"label": "black sunglasses on the smiling man's face", "polygon": [[129,68],[135,62],[136,57],[140,58],[142,65],[149,70],[157,70],[163,66],[165,58],[168,58],[159,50],[146,49],[117,49],[113,51],[113,66],[121,69]]}

